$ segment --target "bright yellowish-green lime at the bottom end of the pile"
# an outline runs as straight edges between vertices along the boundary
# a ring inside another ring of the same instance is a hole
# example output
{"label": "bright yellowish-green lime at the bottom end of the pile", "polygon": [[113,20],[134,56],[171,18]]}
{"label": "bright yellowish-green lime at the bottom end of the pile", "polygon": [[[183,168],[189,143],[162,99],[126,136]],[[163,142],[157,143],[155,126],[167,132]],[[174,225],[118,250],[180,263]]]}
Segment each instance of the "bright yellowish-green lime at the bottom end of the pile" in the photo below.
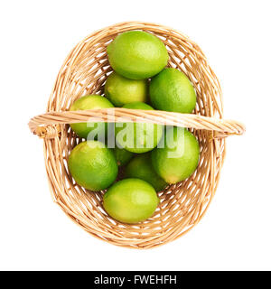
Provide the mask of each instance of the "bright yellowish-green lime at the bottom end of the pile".
{"label": "bright yellowish-green lime at the bottom end of the pile", "polygon": [[112,218],[135,224],[153,216],[159,198],[148,182],[125,179],[114,183],[107,190],[103,204]]}

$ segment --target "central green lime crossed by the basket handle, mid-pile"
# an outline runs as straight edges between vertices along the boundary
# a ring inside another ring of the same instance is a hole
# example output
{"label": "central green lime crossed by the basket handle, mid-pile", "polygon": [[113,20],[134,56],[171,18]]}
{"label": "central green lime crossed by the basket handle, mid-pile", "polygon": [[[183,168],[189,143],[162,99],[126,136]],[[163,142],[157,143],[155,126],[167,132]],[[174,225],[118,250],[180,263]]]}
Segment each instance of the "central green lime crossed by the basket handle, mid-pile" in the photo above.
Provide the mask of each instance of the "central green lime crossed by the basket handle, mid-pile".
{"label": "central green lime crossed by the basket handle, mid-pile", "polygon": [[[153,110],[143,102],[132,102],[124,108]],[[117,123],[116,140],[127,151],[142,154],[151,151],[159,143],[163,135],[163,126],[151,123]]]}

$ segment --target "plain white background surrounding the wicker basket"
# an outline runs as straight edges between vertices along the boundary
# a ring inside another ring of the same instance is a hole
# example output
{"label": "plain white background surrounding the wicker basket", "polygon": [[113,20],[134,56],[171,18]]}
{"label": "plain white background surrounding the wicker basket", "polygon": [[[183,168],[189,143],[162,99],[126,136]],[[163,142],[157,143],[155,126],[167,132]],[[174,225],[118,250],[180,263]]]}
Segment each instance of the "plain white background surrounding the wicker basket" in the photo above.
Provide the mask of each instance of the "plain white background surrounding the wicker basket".
{"label": "plain white background surrounding the wicker basket", "polygon": [[[2,1],[0,5],[0,269],[271,269],[270,1]],[[247,126],[228,139],[206,216],[163,247],[131,250],[89,236],[51,200],[45,111],[68,52],[89,33],[129,20],[162,23],[198,42],[218,75],[225,117]]]}

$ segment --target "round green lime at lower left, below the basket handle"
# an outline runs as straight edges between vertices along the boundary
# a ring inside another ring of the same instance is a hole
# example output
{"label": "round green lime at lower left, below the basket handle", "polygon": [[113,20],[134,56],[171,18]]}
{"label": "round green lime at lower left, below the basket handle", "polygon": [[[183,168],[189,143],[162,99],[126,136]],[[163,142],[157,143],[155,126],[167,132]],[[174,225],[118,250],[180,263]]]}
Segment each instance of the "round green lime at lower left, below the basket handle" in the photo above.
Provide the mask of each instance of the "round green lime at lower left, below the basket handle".
{"label": "round green lime at lower left, below the basket handle", "polygon": [[115,155],[98,141],[76,145],[70,153],[68,166],[75,182],[91,191],[105,190],[117,178]]}

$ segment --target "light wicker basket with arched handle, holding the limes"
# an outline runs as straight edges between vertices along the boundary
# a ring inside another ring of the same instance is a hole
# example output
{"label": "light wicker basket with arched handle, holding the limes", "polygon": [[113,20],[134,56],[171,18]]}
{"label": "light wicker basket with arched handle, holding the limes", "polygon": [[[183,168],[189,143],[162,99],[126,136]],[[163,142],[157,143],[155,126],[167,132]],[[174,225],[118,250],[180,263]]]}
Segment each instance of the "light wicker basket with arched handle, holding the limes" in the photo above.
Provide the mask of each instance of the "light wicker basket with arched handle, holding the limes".
{"label": "light wicker basket with arched handle, holding the limes", "polygon": [[[168,66],[182,70],[197,91],[194,114],[124,108],[111,108],[112,115],[107,114],[107,109],[68,111],[70,104],[83,95],[103,94],[105,80],[112,70],[107,45],[117,33],[129,30],[154,33],[164,42],[170,55]],[[86,122],[89,117],[102,117],[107,122],[129,117],[137,122],[189,127],[201,145],[199,166],[189,179],[158,193],[161,202],[151,219],[136,225],[119,223],[103,210],[104,191],[86,191],[72,180],[67,169],[70,151],[80,142],[68,124]],[[114,245],[150,248],[181,237],[208,209],[220,179],[225,137],[245,131],[242,124],[222,117],[220,83],[200,47],[171,28],[128,22],[92,33],[70,51],[52,89],[47,113],[33,117],[29,126],[33,134],[43,138],[52,198],[70,219],[92,236]]]}

